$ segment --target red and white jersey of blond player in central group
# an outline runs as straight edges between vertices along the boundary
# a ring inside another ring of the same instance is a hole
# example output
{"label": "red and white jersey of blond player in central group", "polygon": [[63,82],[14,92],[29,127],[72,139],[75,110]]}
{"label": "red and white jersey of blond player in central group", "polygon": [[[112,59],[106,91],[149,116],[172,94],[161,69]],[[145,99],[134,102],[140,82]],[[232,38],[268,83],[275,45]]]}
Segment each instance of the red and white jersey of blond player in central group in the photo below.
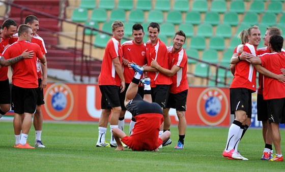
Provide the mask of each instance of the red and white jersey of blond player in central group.
{"label": "red and white jersey of blond player in central group", "polygon": [[113,63],[113,58],[116,57],[119,57],[120,63],[122,64],[123,51],[121,43],[113,37],[107,42],[105,48],[101,73],[98,78],[99,85],[121,85],[121,79]]}

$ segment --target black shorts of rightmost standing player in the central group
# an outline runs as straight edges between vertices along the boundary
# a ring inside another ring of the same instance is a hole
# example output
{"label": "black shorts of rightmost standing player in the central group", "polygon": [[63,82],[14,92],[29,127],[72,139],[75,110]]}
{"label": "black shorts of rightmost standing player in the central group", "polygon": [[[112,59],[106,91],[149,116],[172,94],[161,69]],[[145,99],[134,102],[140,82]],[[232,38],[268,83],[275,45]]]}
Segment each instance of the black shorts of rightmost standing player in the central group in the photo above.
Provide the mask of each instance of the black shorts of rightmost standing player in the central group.
{"label": "black shorts of rightmost standing player in the central group", "polygon": [[177,94],[169,93],[166,108],[174,108],[176,111],[186,111],[187,94],[188,90]]}

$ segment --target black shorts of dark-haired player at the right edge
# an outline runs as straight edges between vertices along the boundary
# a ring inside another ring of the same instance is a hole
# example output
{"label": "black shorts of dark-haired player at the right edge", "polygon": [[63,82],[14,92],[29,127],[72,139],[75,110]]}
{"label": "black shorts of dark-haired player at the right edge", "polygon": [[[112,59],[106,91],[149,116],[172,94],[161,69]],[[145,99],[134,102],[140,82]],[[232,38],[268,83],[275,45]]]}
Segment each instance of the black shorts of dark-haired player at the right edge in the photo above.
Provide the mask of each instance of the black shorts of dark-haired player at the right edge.
{"label": "black shorts of dark-haired player at the right edge", "polygon": [[285,98],[267,100],[269,123],[285,123]]}

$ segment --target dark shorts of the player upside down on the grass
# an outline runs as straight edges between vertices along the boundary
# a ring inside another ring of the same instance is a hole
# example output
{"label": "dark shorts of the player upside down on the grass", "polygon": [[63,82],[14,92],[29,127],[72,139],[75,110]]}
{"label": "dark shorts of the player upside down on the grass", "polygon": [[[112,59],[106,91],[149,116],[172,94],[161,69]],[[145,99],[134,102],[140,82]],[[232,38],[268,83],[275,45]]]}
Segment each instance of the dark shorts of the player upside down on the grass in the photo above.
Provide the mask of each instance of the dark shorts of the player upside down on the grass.
{"label": "dark shorts of the player upside down on the grass", "polygon": [[161,107],[156,102],[147,102],[139,94],[136,94],[127,103],[126,108],[133,116],[149,113],[163,114]]}

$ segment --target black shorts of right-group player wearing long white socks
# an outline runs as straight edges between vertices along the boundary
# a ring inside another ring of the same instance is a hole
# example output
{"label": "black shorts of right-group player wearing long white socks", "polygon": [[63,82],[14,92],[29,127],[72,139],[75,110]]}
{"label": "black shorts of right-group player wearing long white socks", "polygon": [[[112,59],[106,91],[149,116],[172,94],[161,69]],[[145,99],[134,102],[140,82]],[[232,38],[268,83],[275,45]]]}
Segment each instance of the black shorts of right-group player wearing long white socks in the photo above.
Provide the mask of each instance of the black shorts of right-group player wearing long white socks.
{"label": "black shorts of right-group player wearing long white socks", "polygon": [[251,90],[247,88],[230,88],[231,114],[242,110],[251,118]]}

